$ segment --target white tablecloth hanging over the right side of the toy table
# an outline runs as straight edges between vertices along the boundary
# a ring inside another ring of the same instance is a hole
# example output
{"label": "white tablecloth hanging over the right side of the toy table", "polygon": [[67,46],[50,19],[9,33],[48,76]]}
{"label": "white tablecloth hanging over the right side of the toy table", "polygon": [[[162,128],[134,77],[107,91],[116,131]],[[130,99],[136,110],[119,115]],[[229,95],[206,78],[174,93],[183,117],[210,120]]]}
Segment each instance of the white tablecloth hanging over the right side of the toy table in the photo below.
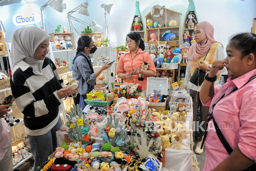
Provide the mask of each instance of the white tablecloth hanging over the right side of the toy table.
{"label": "white tablecloth hanging over the right side of the toy table", "polygon": [[[185,123],[186,129],[188,130],[192,124],[193,113],[188,112],[188,118]],[[183,139],[183,142],[188,144],[185,146],[181,144],[182,147],[187,147],[188,149],[173,149],[171,147],[165,149],[165,169],[169,171],[192,171],[192,151],[190,150],[190,134],[188,137]]]}

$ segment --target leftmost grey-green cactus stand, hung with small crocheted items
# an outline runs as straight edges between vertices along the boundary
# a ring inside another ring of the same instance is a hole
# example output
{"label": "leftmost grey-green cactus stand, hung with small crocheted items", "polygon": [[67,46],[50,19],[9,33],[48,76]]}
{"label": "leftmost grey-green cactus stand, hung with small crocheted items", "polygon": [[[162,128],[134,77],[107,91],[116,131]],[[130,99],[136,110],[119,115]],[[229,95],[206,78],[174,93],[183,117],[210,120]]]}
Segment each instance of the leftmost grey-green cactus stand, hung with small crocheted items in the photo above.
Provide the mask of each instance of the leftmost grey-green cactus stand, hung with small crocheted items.
{"label": "leftmost grey-green cactus stand, hung with small crocheted items", "polygon": [[[76,141],[76,142],[82,141],[82,144],[89,145],[93,142],[93,139],[91,139],[91,136],[92,136],[91,132],[89,133],[89,137],[90,137],[89,141],[82,140],[83,128],[86,127],[88,130],[90,130],[91,128],[91,125],[88,125],[89,119],[85,119],[86,116],[82,114],[83,113],[82,108],[80,108],[80,112],[79,112],[78,104],[77,105],[73,104],[73,108],[74,110],[71,108],[71,111],[69,111],[69,116],[67,116],[68,121],[71,122],[72,117],[76,117],[76,115],[78,115],[78,117],[84,121],[84,125],[81,125],[81,126],[75,125],[75,128],[70,129],[73,135],[69,135],[68,137],[70,138],[71,141]],[[76,130],[76,133],[75,133],[75,130]]]}

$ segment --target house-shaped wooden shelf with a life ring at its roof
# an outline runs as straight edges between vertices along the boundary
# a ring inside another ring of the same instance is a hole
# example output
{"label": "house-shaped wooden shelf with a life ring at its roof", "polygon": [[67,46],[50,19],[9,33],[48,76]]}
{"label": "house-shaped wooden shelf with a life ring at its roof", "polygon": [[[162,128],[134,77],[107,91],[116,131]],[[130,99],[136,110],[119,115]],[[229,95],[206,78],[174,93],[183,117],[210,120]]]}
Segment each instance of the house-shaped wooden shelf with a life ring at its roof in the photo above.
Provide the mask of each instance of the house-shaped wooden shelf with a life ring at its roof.
{"label": "house-shaped wooden shelf with a life ring at its roof", "polygon": [[[156,9],[155,10],[155,13],[158,14],[160,12],[160,10],[158,11],[159,9]],[[150,46],[151,44],[155,44],[158,46],[158,43],[157,42],[150,42],[151,38],[150,38],[150,35],[152,33],[155,33],[156,34],[156,39],[159,41],[160,44],[164,44],[166,41],[160,41],[162,39],[162,35],[168,31],[168,30],[171,30],[173,31],[173,33],[176,35],[176,38],[170,42],[168,42],[169,44],[171,44],[171,49],[174,50],[175,48],[177,48],[179,42],[181,41],[181,36],[180,36],[180,32],[181,32],[181,13],[177,12],[177,11],[173,11],[173,10],[169,10],[167,8],[163,8],[164,10],[164,14],[161,18],[155,20],[154,18],[152,18],[151,16],[151,13],[149,12],[146,16],[145,16],[145,19],[146,19],[146,25],[147,25],[147,18],[151,18],[153,20],[153,23],[155,22],[160,22],[162,24],[164,24],[165,26],[164,27],[161,27],[161,28],[155,28],[153,26],[153,28],[146,28],[146,35],[145,35],[145,40],[146,42],[148,43],[148,45]],[[177,26],[169,26],[169,22],[171,20],[176,20],[177,22]]]}

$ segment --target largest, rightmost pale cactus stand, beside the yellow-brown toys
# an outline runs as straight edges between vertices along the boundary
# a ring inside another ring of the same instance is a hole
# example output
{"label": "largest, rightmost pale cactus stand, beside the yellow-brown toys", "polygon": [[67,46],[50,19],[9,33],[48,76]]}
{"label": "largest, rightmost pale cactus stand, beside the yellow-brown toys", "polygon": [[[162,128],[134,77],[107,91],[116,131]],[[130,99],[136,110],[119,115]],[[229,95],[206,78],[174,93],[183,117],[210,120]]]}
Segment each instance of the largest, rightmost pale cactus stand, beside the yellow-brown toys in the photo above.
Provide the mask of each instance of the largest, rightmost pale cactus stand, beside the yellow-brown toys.
{"label": "largest, rightmost pale cactus stand, beside the yellow-brown toys", "polygon": [[[139,109],[142,109],[141,103],[139,104]],[[138,120],[139,120],[139,122],[141,122],[142,110],[140,110],[140,112],[139,112],[139,109],[136,108],[136,112],[137,112],[137,115],[138,115]],[[145,105],[145,111],[147,111],[147,109],[148,109],[148,105],[146,104]],[[150,116],[151,116],[151,109],[149,108],[148,113],[146,112],[146,121],[149,121]],[[141,143],[138,140],[137,133],[134,136],[134,139],[135,139],[136,143],[138,144],[138,148],[139,148],[139,149],[136,149],[136,152],[139,154],[139,157],[147,158],[149,154],[156,154],[157,152],[155,152],[154,150],[149,152],[149,149],[150,149],[151,145],[154,142],[154,138],[151,138],[148,145],[147,145],[147,137],[148,137],[147,134],[146,134],[147,130],[145,129],[145,131],[143,131],[143,129],[140,129],[140,127],[135,127],[135,125],[132,123],[132,120],[134,118],[135,118],[134,114],[132,114],[132,118],[130,118],[131,126],[129,127],[129,129],[131,131],[131,128],[134,128],[134,130],[137,131],[141,136]],[[155,120],[156,120],[156,117],[154,118],[153,123],[155,123]],[[132,138],[130,137],[130,135],[127,135],[127,136],[129,138],[130,142],[132,142],[132,140],[131,140]],[[157,145],[156,145],[156,147],[159,148],[158,153],[160,153],[163,149],[163,147],[160,146],[160,145],[161,145],[161,141],[159,140],[157,142]]]}

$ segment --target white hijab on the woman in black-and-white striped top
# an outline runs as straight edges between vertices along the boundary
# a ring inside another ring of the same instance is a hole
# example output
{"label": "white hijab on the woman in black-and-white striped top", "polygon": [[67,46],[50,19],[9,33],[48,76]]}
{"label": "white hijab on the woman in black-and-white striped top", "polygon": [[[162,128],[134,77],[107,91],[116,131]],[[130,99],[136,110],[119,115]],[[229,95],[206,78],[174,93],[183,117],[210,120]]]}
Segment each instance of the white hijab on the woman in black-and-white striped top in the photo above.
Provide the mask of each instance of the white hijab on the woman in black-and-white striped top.
{"label": "white hijab on the woman in black-and-white striped top", "polygon": [[39,60],[35,59],[36,48],[46,39],[51,38],[43,29],[37,26],[27,26],[16,30],[11,44],[12,68],[24,61],[29,65],[36,65]]}

